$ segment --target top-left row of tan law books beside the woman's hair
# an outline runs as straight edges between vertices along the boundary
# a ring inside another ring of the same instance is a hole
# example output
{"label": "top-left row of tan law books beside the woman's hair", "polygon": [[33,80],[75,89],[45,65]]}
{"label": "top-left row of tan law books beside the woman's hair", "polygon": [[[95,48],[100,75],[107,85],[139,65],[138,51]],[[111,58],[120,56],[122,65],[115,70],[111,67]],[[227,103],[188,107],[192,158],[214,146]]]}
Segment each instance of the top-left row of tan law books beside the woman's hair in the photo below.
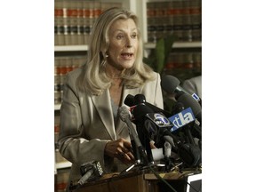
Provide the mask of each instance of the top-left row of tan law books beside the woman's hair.
{"label": "top-left row of tan law books beside the woman's hair", "polygon": [[121,3],[86,0],[55,0],[54,44],[88,44],[94,21],[110,7],[122,7]]}

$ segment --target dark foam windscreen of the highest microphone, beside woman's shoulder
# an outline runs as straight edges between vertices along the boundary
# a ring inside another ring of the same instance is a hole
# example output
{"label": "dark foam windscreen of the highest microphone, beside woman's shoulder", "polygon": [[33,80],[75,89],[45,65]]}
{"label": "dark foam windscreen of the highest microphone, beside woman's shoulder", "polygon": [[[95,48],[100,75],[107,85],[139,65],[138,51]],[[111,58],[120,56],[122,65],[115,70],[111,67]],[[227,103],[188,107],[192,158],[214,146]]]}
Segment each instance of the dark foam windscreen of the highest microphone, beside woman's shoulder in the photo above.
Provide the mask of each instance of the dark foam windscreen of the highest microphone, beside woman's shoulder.
{"label": "dark foam windscreen of the highest microphone, beside woman's shoulder", "polygon": [[173,93],[179,86],[180,80],[175,76],[163,76],[161,80],[161,87],[165,92]]}

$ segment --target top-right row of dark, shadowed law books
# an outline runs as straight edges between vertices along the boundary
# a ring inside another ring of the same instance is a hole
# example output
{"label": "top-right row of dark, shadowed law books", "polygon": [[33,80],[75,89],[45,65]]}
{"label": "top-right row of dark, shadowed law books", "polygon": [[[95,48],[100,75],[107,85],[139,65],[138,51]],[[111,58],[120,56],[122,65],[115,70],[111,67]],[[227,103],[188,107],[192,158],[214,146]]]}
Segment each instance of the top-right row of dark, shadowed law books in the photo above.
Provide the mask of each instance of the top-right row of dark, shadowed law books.
{"label": "top-right row of dark, shadowed law books", "polygon": [[202,39],[201,0],[174,0],[147,3],[148,42],[163,36],[177,36],[177,41]]}

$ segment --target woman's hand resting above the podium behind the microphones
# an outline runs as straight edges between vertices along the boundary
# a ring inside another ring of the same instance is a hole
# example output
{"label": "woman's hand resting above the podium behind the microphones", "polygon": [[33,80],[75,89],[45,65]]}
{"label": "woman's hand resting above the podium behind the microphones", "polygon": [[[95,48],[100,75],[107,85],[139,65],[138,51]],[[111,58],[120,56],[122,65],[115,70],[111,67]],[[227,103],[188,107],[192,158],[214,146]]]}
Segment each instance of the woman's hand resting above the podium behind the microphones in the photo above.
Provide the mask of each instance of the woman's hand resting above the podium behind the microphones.
{"label": "woman's hand resting above the podium behind the microphones", "polygon": [[132,144],[123,138],[109,141],[105,146],[105,154],[118,158],[124,164],[134,163]]}

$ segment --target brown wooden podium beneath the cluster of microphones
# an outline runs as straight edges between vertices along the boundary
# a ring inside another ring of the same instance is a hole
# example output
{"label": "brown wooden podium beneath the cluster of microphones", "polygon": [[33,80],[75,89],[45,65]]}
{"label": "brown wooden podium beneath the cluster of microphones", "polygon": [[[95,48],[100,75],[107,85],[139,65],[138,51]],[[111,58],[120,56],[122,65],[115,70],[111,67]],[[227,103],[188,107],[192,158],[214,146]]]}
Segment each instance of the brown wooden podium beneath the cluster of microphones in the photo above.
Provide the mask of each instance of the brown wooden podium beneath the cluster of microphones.
{"label": "brown wooden podium beneath the cluster of microphones", "polygon": [[[157,172],[157,174],[168,181],[182,180],[189,175],[199,172]],[[100,180],[85,183],[84,186],[78,188],[78,192],[159,192],[157,183],[161,182],[156,175],[151,172],[128,172],[120,175],[119,172],[105,174]],[[187,184],[187,183],[186,183]],[[180,184],[179,184],[180,185]],[[74,190],[75,191],[75,190]],[[180,190],[181,191],[181,190]],[[179,192],[180,192],[179,191]]]}

